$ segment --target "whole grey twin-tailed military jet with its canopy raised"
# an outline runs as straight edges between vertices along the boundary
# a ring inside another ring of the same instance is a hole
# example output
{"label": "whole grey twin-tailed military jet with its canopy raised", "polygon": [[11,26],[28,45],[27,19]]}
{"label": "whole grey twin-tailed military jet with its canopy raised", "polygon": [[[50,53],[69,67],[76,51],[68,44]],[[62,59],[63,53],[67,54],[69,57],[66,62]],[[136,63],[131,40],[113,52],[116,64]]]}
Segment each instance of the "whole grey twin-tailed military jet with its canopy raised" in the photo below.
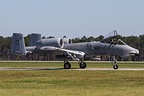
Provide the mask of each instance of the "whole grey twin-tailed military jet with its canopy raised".
{"label": "whole grey twin-tailed military jet with its canopy raised", "polygon": [[[114,41],[117,37],[117,31],[111,32],[112,35],[106,36],[101,41],[71,43],[68,38],[47,38],[33,36],[31,46],[25,47],[24,37],[21,33],[13,33],[11,53],[26,56],[28,53],[32,54],[55,54],[58,57],[71,57],[79,59],[79,66],[81,69],[86,68],[85,57],[92,57],[96,55],[111,56],[114,69],[118,69],[117,60],[115,56],[131,56],[139,54],[139,51],[122,40]],[[109,40],[109,42],[105,42]],[[34,43],[33,43],[34,42]],[[116,43],[116,42],[121,42]],[[64,60],[64,68],[70,69],[70,62]]]}

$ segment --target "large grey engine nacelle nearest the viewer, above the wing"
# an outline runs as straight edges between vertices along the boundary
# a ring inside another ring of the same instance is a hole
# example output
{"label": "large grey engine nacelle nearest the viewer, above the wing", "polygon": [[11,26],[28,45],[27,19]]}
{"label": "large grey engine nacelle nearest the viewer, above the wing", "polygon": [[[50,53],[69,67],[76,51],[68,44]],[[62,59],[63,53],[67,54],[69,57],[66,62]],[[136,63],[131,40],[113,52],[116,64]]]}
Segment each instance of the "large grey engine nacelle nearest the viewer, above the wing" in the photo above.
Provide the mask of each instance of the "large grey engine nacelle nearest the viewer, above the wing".
{"label": "large grey engine nacelle nearest the viewer, above the wing", "polygon": [[60,38],[48,38],[48,39],[41,39],[38,40],[36,43],[36,48],[40,48],[43,46],[53,46],[58,48],[63,48],[64,41]]}

